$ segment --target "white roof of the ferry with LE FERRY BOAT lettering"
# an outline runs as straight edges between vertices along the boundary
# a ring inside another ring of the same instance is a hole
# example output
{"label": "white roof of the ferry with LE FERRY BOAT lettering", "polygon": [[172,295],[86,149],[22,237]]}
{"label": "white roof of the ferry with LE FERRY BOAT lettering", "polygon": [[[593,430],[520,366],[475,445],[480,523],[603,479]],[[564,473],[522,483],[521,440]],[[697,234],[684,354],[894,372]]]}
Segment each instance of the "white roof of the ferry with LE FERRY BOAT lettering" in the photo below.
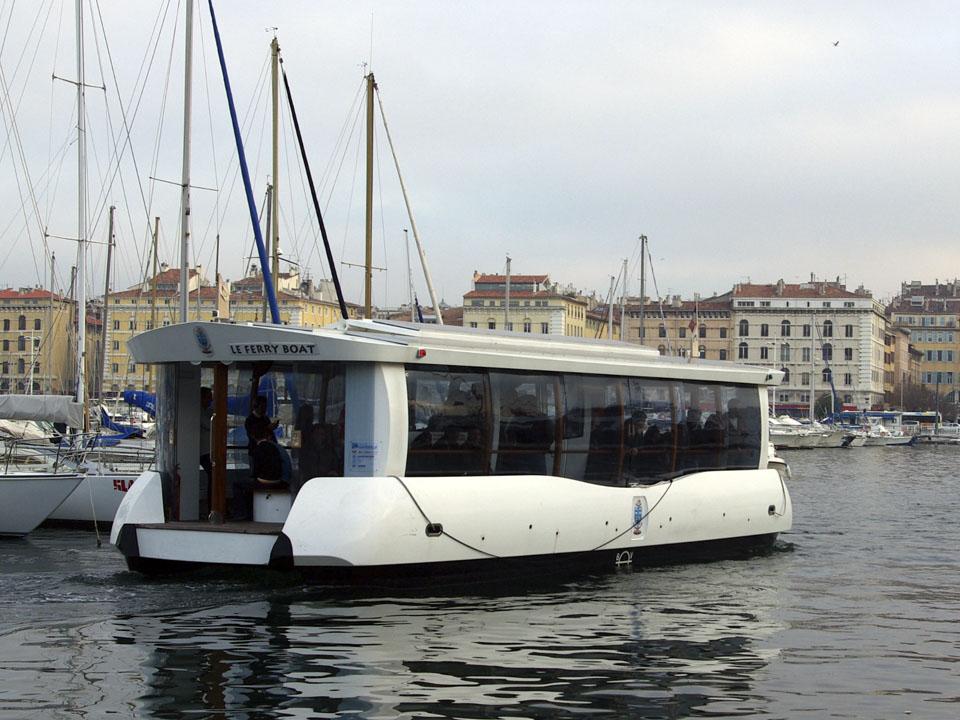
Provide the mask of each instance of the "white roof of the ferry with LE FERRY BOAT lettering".
{"label": "white roof of the ferry with LE FERRY BOAT lettering", "polygon": [[141,333],[128,347],[139,363],[386,362],[748,385],[777,385],[783,375],[753,365],[665,357],[631,343],[394,320],[341,320],[325,328],[186,322]]}

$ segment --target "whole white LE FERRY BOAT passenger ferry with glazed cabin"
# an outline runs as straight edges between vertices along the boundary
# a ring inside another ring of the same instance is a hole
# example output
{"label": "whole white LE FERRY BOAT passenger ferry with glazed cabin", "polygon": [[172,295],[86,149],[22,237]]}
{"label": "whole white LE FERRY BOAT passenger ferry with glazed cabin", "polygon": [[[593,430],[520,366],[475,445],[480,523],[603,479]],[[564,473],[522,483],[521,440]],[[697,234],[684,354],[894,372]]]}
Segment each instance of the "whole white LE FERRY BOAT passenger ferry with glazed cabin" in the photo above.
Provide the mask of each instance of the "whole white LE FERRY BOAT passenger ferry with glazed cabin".
{"label": "whole white LE FERRY BOAT passenger ferry with glazed cabin", "polygon": [[[134,571],[469,581],[752,553],[791,527],[783,476],[767,467],[770,369],[375,320],[188,322],[129,347],[158,375],[156,468],[111,533]],[[238,399],[267,387],[291,456],[281,485],[252,477],[241,432]]]}

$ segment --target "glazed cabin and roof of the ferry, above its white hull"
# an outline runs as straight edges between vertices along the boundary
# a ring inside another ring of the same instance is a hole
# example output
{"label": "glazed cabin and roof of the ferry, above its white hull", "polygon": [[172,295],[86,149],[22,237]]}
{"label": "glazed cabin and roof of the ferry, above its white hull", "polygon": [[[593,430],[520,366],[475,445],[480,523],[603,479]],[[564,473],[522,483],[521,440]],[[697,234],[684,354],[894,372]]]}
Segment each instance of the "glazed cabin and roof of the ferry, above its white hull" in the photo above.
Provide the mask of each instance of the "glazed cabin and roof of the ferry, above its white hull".
{"label": "glazed cabin and roof of the ferry, above its white hull", "polygon": [[[368,320],[184,323],[130,348],[158,368],[157,468],[165,518],[179,520],[249,518],[249,491],[295,497],[323,477],[635,487],[756,470],[767,461],[766,385],[779,380],[619,343]],[[258,403],[267,420],[251,423]],[[262,442],[277,447],[279,478],[274,467],[256,479]]]}

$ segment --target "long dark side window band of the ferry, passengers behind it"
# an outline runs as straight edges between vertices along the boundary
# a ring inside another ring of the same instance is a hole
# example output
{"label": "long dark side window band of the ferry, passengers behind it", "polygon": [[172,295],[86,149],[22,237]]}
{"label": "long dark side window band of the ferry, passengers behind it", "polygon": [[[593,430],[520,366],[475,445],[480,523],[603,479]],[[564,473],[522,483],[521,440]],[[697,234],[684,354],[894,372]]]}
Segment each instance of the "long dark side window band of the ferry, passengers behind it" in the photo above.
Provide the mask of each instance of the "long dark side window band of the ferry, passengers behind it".
{"label": "long dark side window band of the ferry, passengers behind it", "polygon": [[753,386],[407,368],[406,473],[559,475],[622,486],[756,468]]}

